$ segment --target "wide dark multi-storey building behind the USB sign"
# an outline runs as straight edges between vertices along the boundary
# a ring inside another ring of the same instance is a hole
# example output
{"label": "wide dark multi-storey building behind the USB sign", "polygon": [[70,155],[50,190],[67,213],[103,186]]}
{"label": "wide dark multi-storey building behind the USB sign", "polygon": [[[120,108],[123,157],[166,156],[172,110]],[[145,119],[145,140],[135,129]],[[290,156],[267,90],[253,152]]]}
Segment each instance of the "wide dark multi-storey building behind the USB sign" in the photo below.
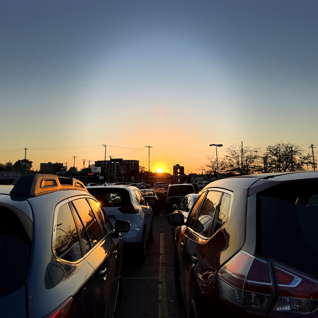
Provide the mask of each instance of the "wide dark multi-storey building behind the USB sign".
{"label": "wide dark multi-storey building behind the USB sign", "polygon": [[[101,174],[105,169],[105,178],[109,180],[110,177],[122,177],[123,180],[131,180],[131,177],[137,177],[139,174],[139,160],[123,160],[122,158],[112,158],[111,160],[95,161],[95,167],[101,167]],[[118,179],[118,178],[117,178]]]}

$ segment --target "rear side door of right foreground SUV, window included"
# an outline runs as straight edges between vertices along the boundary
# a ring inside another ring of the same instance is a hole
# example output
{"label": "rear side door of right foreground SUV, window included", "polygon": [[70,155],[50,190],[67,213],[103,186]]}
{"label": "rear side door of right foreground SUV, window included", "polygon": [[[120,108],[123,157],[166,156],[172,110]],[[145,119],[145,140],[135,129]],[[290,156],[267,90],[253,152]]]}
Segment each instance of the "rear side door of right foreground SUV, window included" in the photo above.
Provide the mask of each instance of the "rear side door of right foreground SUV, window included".
{"label": "rear side door of right foreground SUV, window included", "polygon": [[[206,249],[208,238],[211,237],[213,220],[222,196],[221,191],[205,191],[202,203],[198,200],[196,215],[189,218],[184,228],[183,240],[183,284],[186,306],[189,309],[195,299],[197,290],[197,266]],[[200,204],[200,206],[198,206]]]}

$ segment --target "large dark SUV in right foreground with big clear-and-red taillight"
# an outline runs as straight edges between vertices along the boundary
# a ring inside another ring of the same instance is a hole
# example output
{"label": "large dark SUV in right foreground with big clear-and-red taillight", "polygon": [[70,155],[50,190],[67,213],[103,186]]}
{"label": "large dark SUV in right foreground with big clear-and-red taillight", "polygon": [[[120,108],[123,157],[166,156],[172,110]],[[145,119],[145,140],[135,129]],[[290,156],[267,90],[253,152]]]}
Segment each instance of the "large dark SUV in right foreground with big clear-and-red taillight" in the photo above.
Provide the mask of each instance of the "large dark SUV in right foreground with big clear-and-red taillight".
{"label": "large dark SUV in right foreground with big clear-and-red taillight", "polygon": [[170,214],[187,316],[317,317],[317,197],[315,171],[240,176]]}

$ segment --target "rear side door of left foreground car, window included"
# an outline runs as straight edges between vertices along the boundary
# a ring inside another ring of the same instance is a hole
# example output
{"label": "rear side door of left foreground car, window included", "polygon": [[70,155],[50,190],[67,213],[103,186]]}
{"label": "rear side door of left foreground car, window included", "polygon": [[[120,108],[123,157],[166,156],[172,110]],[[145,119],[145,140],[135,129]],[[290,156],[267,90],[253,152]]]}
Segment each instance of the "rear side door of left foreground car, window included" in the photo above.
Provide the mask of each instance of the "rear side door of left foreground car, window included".
{"label": "rear side door of left foreground car, window included", "polygon": [[101,233],[99,222],[85,197],[72,200],[72,206],[79,216],[82,225],[81,233],[86,235],[91,246],[84,257],[93,267],[95,276],[104,290],[108,314],[109,317],[112,317],[117,281],[116,245],[110,235],[111,232],[103,237],[104,234]]}

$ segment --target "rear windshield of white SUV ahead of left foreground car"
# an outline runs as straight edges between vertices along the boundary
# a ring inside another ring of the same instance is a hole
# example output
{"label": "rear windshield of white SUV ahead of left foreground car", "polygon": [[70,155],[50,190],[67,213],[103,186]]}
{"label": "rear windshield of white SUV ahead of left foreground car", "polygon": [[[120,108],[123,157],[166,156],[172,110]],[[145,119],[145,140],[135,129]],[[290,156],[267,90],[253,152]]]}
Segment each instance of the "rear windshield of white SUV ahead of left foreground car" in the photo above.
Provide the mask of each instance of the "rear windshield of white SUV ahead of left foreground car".
{"label": "rear windshield of white SUV ahead of left foreground car", "polygon": [[109,186],[105,188],[88,188],[90,194],[92,194],[102,205],[102,207],[109,206],[123,206],[130,202],[128,190],[111,188]]}

